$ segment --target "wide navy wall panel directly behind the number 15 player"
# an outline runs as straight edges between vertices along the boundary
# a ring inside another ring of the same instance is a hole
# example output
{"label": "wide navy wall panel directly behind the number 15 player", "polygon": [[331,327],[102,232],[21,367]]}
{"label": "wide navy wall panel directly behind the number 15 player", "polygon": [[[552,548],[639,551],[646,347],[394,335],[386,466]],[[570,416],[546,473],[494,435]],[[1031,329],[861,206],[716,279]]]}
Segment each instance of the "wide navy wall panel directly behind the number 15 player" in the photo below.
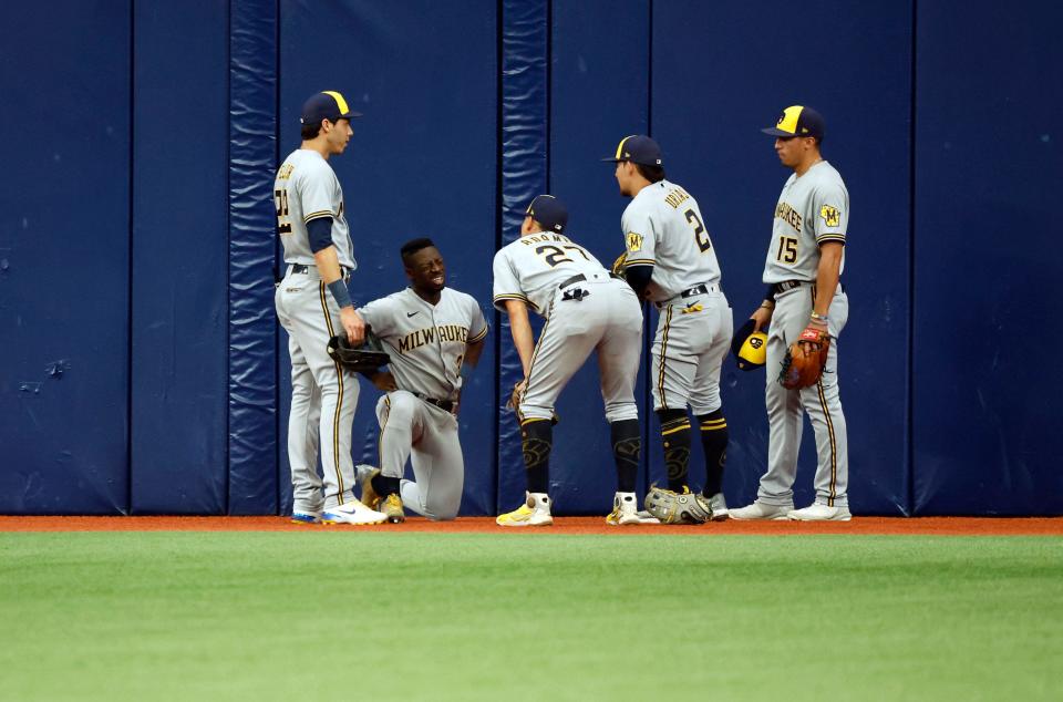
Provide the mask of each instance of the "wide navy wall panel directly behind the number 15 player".
{"label": "wide navy wall panel directly behind the number 15 player", "polygon": [[[651,128],[669,178],[701,205],[737,327],[762,299],[772,213],[789,175],[760,128],[792,104],[824,114],[824,156],[845,178],[853,211],[843,276],[850,317],[840,338],[852,505],[861,514],[897,514],[907,510],[908,493],[911,9],[907,2],[814,0],[801,14],[830,19],[765,21],[793,18],[792,3],[776,0],[656,0]],[[724,489],[732,504],[755,497],[766,466],[763,382],[764,371],[737,371],[730,359],[724,367],[731,433]],[[805,443],[811,448],[811,426]],[[700,447],[695,455],[691,477],[698,483],[704,475]],[[650,458],[651,476],[662,477],[659,447]],[[813,452],[799,463],[795,498],[804,505],[813,498]]]}

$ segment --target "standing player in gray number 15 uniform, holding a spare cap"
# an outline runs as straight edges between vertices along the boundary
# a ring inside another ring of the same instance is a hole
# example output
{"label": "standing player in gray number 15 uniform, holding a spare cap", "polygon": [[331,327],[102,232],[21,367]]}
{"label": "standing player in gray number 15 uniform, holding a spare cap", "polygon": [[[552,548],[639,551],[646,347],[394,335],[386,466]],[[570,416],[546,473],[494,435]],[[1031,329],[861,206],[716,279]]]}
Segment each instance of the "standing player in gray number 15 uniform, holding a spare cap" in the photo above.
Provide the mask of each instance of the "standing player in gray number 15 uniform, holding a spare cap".
{"label": "standing player in gray number 15 uniform, holding a spare cap", "polygon": [[[830,519],[847,522],[848,441],[838,396],[837,337],[849,317],[838,282],[845,264],[849,194],[842,176],[819,153],[824,122],[811,107],[786,107],[777,124],[762,130],[775,136],[780,162],[794,173],[775,205],[772,240],[764,265],[767,293],[751,318],[767,335],[767,473],[756,502],[731,513],[736,519]],[[808,331],[833,339],[819,381],[802,390],[776,382],[791,343]],[[794,477],[801,445],[802,410],[816,434],[816,499],[794,509]]]}

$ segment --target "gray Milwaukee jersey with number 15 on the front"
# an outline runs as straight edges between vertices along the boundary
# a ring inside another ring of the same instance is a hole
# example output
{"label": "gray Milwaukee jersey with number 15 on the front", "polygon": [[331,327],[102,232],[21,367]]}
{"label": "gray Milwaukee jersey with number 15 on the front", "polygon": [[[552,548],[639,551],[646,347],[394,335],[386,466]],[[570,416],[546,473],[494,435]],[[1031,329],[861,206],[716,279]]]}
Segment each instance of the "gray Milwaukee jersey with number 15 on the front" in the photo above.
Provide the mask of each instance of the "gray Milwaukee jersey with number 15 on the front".
{"label": "gray Milwaukee jersey with number 15 on the front", "polygon": [[764,282],[815,280],[819,245],[845,244],[848,226],[849,192],[834,166],[821,161],[801,177],[791,175],[775,205]]}

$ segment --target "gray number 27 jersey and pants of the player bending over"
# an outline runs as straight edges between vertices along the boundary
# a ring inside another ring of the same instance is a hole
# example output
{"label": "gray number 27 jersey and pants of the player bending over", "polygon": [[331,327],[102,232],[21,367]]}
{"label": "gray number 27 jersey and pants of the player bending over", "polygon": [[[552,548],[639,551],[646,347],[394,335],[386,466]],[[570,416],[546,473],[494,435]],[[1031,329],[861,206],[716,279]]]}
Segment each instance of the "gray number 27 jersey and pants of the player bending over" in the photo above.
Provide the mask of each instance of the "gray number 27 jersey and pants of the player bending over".
{"label": "gray number 27 jersey and pants of the player bending over", "polygon": [[642,345],[642,307],[628,286],[587,249],[559,234],[520,237],[495,254],[494,303],[523,300],[546,318],[528,370],[520,415],[547,420],[561,390],[598,353],[609,422],[637,420],[634,380]]}

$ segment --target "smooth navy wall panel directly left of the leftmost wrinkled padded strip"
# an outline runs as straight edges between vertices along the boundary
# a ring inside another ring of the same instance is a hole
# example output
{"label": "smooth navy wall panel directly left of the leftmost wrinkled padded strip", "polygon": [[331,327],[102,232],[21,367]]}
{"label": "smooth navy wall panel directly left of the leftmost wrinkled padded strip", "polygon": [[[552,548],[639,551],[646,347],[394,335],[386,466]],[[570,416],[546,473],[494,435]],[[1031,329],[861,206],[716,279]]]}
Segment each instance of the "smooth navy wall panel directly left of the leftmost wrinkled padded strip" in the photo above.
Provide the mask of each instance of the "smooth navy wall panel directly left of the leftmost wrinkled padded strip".
{"label": "smooth navy wall panel directly left of the leftmost wrinkled padded strip", "polygon": [[228,2],[134,8],[132,499],[227,508]]}

